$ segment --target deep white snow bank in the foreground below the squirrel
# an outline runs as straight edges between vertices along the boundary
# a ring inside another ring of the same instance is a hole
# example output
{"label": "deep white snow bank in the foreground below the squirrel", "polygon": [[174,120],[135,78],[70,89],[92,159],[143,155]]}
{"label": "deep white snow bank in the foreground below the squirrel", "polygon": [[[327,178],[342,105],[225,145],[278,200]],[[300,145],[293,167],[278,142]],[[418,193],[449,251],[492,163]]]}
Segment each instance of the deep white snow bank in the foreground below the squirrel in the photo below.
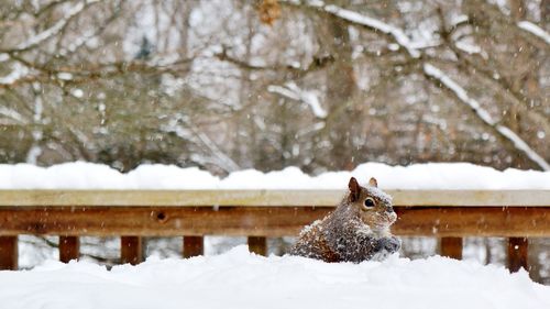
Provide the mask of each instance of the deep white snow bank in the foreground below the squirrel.
{"label": "deep white snow bank in the foreground below the squirrel", "polygon": [[440,256],[328,264],[262,257],[238,246],[217,256],[150,258],[111,271],[47,261],[0,272],[2,308],[550,308],[550,287],[520,271]]}

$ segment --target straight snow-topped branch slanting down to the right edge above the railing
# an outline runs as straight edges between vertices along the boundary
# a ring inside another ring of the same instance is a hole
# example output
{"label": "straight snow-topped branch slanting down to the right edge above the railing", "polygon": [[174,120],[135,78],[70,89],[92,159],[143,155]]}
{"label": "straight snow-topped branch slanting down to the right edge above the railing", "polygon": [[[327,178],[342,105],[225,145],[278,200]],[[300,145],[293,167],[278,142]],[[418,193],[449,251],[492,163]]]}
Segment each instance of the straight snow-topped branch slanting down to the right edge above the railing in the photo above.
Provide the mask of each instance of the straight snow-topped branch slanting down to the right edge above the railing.
{"label": "straight snow-topped branch slanting down to the right edge above the railing", "polygon": [[510,141],[518,151],[525,153],[529,159],[535,162],[540,168],[543,170],[550,170],[550,164],[546,162],[546,159],[540,156],[535,150],[532,150],[521,137],[519,137],[515,132],[509,130],[508,128],[497,123],[490,113],[483,109],[475,99],[472,99],[466,90],[462,88],[457,81],[450,78],[447,74],[441,71],[439,68],[430,65],[424,65],[424,71],[430,78],[438,80],[442,86],[452,91],[457,98],[471,108],[475,115],[481,119],[485,124],[494,128],[498,134],[501,134],[506,140]]}

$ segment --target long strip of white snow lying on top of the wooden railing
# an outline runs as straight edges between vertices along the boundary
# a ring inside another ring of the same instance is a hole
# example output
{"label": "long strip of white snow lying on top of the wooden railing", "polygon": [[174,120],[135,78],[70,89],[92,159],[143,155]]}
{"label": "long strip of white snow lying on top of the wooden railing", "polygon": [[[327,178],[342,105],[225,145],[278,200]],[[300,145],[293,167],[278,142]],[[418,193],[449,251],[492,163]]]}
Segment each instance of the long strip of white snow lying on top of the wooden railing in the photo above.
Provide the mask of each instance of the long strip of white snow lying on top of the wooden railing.
{"label": "long strip of white snow lying on top of the wooden railing", "polygon": [[384,189],[550,189],[550,172],[499,172],[470,163],[389,166],[365,163],[352,172],[309,176],[297,167],[262,173],[238,170],[224,178],[197,167],[141,165],[122,174],[107,165],[74,162],[37,167],[0,164],[0,189],[338,189],[351,176],[362,184],[375,177]]}

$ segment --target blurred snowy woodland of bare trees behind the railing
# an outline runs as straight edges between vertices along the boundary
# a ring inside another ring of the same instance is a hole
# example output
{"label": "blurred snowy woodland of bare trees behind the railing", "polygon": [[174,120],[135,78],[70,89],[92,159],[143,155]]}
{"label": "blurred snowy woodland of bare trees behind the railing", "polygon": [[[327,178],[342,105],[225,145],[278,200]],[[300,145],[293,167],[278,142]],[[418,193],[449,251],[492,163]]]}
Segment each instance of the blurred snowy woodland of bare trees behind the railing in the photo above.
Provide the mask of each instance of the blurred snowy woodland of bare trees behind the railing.
{"label": "blurred snowy woodland of bare trees behind the railing", "polygon": [[4,1],[0,158],[548,168],[546,2]]}

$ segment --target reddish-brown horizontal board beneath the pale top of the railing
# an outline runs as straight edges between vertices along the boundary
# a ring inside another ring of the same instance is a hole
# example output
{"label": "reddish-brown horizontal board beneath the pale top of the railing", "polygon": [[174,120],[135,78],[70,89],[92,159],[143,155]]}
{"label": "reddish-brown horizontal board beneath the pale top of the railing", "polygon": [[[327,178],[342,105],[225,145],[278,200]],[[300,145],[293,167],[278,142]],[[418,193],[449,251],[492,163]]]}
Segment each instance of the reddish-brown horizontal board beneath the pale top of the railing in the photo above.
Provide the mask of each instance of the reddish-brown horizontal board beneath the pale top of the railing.
{"label": "reddish-brown horizontal board beneath the pale top of the railing", "polygon": [[[549,236],[550,207],[396,207],[398,235]],[[318,207],[1,208],[0,235],[297,235],[331,209]],[[160,216],[162,214],[162,216]]]}

